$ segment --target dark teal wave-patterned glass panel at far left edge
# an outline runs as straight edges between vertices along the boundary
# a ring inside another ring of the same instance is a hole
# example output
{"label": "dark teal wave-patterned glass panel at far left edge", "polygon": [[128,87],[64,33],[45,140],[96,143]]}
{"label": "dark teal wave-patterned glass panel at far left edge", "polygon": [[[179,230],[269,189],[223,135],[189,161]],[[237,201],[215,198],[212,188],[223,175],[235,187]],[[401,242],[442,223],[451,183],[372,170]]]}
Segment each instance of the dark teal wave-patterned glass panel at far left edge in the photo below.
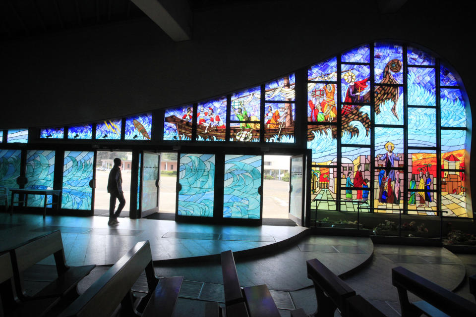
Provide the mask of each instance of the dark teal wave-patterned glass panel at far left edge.
{"label": "dark teal wave-patterned glass panel at far left edge", "polygon": [[[0,186],[19,188],[21,150],[0,150]],[[4,201],[0,201],[4,204]]]}

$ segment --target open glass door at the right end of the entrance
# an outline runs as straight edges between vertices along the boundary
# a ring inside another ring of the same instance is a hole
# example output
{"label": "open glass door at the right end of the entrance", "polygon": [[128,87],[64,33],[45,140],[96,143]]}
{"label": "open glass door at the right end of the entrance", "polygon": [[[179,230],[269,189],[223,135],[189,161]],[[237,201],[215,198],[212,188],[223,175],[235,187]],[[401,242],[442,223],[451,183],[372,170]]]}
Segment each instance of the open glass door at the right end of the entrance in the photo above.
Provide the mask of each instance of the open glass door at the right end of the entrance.
{"label": "open glass door at the right end of the entrance", "polygon": [[302,225],[305,156],[291,157],[289,178],[289,218]]}

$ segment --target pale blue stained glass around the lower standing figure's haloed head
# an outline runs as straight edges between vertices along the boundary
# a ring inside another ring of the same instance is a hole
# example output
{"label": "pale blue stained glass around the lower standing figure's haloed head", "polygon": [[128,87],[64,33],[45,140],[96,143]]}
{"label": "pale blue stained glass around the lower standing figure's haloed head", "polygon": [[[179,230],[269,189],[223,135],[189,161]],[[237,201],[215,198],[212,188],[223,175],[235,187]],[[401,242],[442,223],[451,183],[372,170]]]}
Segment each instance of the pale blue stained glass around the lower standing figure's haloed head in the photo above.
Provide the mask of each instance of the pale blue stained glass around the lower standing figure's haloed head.
{"label": "pale blue stained glass around the lower standing figure's haloed head", "polygon": [[[382,128],[375,127],[375,164],[381,159],[379,156],[385,156],[391,152],[396,157],[401,158],[401,162],[397,164],[394,162],[393,167],[403,166],[403,128]],[[381,163],[381,162],[380,162]]]}

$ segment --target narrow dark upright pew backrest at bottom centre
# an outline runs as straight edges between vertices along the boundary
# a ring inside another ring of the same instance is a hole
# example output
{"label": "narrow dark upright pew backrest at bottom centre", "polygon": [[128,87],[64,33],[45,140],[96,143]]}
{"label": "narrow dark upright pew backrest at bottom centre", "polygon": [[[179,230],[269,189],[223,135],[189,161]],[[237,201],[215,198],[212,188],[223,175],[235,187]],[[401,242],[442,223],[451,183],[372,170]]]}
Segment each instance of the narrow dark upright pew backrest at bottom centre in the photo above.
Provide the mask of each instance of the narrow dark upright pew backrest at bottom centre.
{"label": "narrow dark upright pew backrest at bottom centre", "polygon": [[241,287],[239,286],[235,258],[231,250],[221,254],[223,287],[225,289],[225,303],[231,305],[244,300]]}

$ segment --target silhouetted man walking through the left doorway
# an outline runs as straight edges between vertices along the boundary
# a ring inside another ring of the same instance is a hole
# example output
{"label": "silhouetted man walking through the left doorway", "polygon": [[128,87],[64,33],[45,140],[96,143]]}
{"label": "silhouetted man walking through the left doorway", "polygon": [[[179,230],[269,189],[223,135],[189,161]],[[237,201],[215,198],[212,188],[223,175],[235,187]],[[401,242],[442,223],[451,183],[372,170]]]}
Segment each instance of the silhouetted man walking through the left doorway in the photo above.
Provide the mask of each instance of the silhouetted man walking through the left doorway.
{"label": "silhouetted man walking through the left doorway", "polygon": [[[108,225],[113,226],[119,224],[118,217],[120,211],[125,206],[124,192],[122,192],[122,176],[120,175],[120,166],[121,161],[119,158],[114,159],[114,167],[109,172],[108,179],[108,193],[111,194],[111,199],[109,200],[109,222]],[[116,199],[119,199],[119,206],[116,213],[114,209],[116,208]]]}

